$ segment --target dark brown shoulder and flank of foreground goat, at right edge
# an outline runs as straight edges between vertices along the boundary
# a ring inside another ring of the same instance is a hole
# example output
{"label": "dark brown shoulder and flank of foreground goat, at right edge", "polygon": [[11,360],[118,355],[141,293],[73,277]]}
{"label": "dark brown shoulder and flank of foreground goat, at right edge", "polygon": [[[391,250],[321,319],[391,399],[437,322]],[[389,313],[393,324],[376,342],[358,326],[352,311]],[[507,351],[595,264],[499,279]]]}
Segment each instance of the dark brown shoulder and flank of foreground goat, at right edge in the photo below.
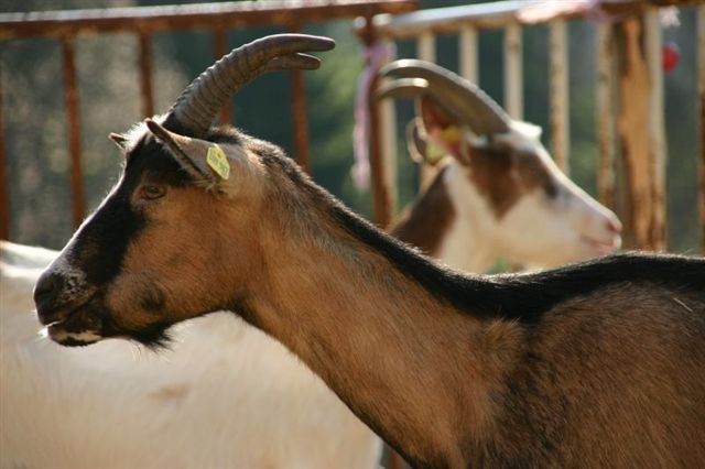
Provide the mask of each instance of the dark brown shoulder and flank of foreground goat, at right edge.
{"label": "dark brown shoulder and flank of foreground goat, at right edge", "polygon": [[525,438],[545,435],[561,444],[534,460],[560,467],[698,467],[705,303],[685,295],[701,315],[684,314],[674,295],[622,284],[556,308],[512,377],[506,455],[527,458]]}

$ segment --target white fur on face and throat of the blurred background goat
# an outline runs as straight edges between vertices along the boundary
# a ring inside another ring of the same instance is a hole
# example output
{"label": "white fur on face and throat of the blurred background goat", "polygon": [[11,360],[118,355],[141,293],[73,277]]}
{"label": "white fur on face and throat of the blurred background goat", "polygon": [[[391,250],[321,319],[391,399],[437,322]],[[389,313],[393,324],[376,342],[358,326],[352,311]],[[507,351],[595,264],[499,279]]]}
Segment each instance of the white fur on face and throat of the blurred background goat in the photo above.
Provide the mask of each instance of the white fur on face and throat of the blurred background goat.
{"label": "white fur on face and throat of the blurred background goat", "polygon": [[[540,138],[541,128],[520,121],[512,122],[510,132],[494,137],[534,154],[553,175],[558,196],[550,199],[542,190],[531,192],[500,218],[473,184],[471,170],[447,157],[444,183],[457,216],[440,243],[443,262],[469,272],[486,271],[498,258],[529,268],[551,268],[620,247],[617,216],[555,165]],[[516,176],[521,185],[519,174]]]}

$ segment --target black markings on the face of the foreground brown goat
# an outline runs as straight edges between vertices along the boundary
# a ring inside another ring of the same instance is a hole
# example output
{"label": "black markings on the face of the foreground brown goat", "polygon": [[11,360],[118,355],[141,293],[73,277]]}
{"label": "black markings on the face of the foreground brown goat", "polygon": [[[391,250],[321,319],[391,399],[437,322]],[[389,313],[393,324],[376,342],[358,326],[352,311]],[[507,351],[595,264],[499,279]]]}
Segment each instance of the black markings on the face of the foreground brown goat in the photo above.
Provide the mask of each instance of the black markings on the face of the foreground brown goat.
{"label": "black markings on the face of the foreground brown goat", "polygon": [[[170,130],[187,134],[181,128]],[[207,140],[220,143],[238,144],[239,133],[229,128],[214,128]],[[88,285],[98,288],[91,304],[82,307],[63,326],[68,332],[95,330],[104,337],[128,337],[150,348],[162,348],[169,343],[166,329],[171,323],[156,323],[140,330],[126,329],[115,323],[113,312],[105,305],[105,291],[120,275],[123,259],[130,244],[140,231],[149,226],[150,219],[144,209],[133,203],[133,194],[141,185],[155,184],[171,187],[184,187],[193,183],[170,151],[154,135],[145,133],[135,142],[126,155],[123,175],[110,195],[80,228],[70,249],[67,261],[85,273]],[[134,298],[145,312],[160,313],[164,309],[166,297],[163,291],[152,285],[141,297]],[[91,319],[100,324],[89,324]],[[72,343],[85,345],[70,339]],[[73,343],[76,342],[76,343]]]}

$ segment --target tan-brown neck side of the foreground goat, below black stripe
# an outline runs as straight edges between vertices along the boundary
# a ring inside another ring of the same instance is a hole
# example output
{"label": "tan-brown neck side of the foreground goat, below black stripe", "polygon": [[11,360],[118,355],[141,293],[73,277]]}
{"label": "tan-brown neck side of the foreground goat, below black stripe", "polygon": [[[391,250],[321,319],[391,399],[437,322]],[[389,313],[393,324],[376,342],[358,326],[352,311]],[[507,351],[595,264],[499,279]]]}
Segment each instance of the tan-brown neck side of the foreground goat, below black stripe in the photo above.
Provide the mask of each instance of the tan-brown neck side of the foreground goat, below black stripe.
{"label": "tan-brown neck side of the foreground goat, below black stripe", "polygon": [[324,225],[296,236],[267,230],[265,279],[249,295],[253,324],[410,460],[462,463],[468,435],[479,438],[491,418],[490,374],[501,374],[479,351],[486,325]]}

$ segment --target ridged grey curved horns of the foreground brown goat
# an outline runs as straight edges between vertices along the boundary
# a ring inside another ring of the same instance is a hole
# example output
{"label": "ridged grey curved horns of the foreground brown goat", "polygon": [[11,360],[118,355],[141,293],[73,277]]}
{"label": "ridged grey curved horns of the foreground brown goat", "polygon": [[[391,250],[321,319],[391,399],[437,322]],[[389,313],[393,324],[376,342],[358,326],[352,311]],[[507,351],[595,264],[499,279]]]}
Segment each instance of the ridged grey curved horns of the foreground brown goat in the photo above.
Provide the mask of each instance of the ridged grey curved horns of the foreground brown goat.
{"label": "ridged grey curved horns of the foreground brown goat", "polygon": [[267,72],[318,68],[321,62],[303,52],[334,46],[335,41],[328,37],[276,34],[235,48],[188,85],[170,109],[164,126],[175,124],[193,137],[203,137],[220,108],[247,83]]}

